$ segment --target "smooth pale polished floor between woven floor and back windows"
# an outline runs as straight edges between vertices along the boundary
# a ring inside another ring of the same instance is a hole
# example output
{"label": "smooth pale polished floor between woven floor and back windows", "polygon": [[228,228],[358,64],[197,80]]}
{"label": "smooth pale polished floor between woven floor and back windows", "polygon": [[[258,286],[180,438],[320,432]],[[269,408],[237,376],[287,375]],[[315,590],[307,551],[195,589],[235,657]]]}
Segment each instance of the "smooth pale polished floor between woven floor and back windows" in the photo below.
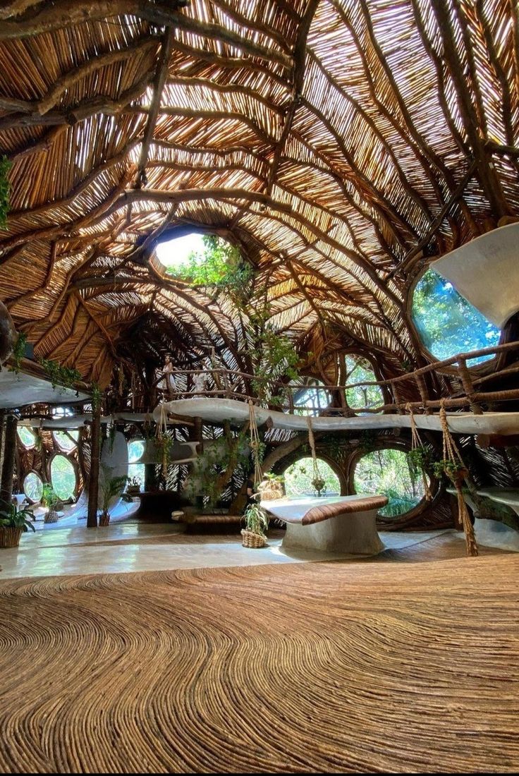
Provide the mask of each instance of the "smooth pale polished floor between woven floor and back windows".
{"label": "smooth pale polished floor between woven floor and back windows", "polygon": [[[0,550],[0,579],[92,573],[126,573],[216,566],[256,566],[265,563],[303,563],[358,556],[308,551],[285,553],[283,531],[271,529],[268,546],[245,549],[239,528],[227,532],[186,533],[184,525],[129,520],[106,528],[54,528],[22,535],[18,549]],[[373,561],[442,559],[465,555],[459,532],[381,532],[386,549]],[[500,549],[482,548],[483,553]],[[361,559],[361,562],[365,559]]]}

